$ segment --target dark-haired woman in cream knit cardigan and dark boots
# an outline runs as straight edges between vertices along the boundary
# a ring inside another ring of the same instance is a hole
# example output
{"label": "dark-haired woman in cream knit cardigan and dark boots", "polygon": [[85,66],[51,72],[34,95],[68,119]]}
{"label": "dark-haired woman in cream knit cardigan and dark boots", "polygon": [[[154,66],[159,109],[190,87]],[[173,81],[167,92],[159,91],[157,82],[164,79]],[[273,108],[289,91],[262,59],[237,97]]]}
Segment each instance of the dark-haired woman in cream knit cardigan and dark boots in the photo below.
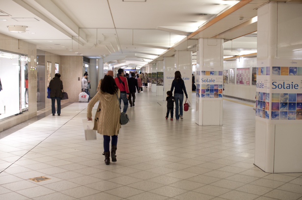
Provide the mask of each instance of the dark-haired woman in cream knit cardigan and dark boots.
{"label": "dark-haired woman in cream knit cardigan and dark boots", "polygon": [[112,76],[107,75],[104,77],[101,89],[88,103],[87,118],[92,120],[92,108],[99,100],[98,109],[94,118],[94,130],[104,136],[104,155],[106,165],[110,164],[110,136],[111,136],[111,160],[116,162],[116,145],[117,135],[120,125],[120,108],[118,98],[120,91],[115,84]]}

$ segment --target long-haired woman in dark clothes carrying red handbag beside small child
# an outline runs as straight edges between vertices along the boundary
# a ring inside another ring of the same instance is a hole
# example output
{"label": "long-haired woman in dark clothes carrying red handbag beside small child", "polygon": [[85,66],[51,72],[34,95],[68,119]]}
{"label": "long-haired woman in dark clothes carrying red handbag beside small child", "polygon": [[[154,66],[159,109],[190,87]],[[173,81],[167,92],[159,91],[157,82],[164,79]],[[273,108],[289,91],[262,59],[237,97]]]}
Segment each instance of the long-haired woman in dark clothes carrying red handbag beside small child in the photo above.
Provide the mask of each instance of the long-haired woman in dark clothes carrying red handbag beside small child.
{"label": "long-haired woman in dark clothes carrying red handbag beside small child", "polygon": [[186,86],[184,80],[181,78],[181,74],[179,71],[175,72],[175,77],[172,82],[171,86],[171,92],[173,92],[173,89],[175,87],[174,91],[174,98],[175,98],[175,117],[176,120],[184,119],[183,118],[183,101],[184,101],[184,92],[186,95],[186,101],[188,99],[188,94],[186,91]]}

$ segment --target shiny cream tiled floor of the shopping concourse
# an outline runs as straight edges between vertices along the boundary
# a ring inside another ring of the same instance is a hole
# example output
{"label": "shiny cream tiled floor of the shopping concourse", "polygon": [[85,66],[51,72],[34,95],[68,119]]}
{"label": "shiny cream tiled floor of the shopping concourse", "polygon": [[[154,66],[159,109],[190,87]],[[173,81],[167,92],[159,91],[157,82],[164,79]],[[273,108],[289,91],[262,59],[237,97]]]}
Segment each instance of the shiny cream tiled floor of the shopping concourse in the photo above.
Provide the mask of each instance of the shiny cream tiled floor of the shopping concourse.
{"label": "shiny cream tiled floor of the shopping concourse", "polygon": [[[109,166],[102,136],[84,140],[86,106],[73,103],[0,140],[0,200],[302,200],[302,174],[253,165],[250,106],[225,100],[223,126],[198,126],[194,108],[165,120],[163,97],[144,90]],[[51,179],[28,180],[38,176]]]}

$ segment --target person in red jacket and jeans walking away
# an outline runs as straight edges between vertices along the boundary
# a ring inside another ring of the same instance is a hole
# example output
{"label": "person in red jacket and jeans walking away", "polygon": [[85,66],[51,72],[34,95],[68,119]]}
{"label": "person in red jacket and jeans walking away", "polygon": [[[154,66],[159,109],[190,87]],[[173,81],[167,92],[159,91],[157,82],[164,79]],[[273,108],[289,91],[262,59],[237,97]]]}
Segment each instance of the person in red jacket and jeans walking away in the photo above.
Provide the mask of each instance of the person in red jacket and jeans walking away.
{"label": "person in red jacket and jeans walking away", "polygon": [[119,97],[119,103],[123,100],[124,102],[124,109],[123,112],[126,113],[128,108],[128,97],[129,97],[129,88],[128,88],[128,81],[127,78],[124,77],[124,70],[118,69],[118,75],[114,78],[117,87],[119,88],[121,94]]}

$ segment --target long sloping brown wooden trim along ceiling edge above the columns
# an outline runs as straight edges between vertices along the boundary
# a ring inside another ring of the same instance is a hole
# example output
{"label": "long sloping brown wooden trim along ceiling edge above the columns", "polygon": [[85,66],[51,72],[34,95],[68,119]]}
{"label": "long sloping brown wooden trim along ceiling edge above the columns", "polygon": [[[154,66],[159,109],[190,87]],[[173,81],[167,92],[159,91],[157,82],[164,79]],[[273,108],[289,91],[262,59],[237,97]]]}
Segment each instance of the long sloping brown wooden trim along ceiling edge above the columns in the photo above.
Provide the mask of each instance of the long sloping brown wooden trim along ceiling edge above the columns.
{"label": "long sloping brown wooden trim along ceiling edge above the columns", "polygon": [[203,31],[204,29],[208,28],[211,25],[214,25],[215,23],[217,23],[218,21],[220,21],[221,19],[225,18],[226,16],[228,16],[229,14],[235,12],[236,10],[242,8],[243,6],[247,5],[247,3],[251,2],[253,0],[241,0],[239,1],[236,5],[230,7],[229,9],[227,9],[226,11],[224,11],[223,13],[221,13],[219,16],[217,16],[216,18],[214,18],[213,20],[211,20],[210,22],[208,22],[207,24],[201,26],[200,28],[198,28],[196,31],[192,32],[189,36],[188,39],[192,38],[193,36],[197,35],[198,33],[200,33],[201,31]]}

